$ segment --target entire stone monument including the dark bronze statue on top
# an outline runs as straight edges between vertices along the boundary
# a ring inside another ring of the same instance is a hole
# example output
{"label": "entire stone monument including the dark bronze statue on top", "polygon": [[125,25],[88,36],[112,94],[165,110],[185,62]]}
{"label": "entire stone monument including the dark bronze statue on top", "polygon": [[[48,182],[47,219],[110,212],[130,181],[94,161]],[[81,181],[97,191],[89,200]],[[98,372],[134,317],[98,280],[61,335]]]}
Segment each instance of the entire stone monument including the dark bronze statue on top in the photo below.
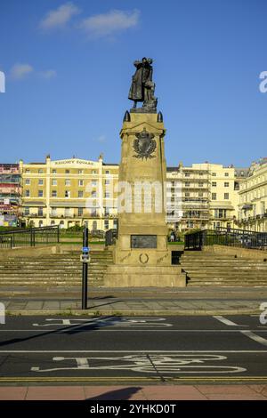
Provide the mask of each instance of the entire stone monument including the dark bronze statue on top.
{"label": "entire stone monument including the dark bronze statue on top", "polygon": [[[157,112],[151,62],[134,62],[129,93],[134,108],[126,111],[120,132],[118,237],[114,264],[104,276],[106,286],[185,286],[185,275],[179,265],[172,265],[167,247],[166,130]],[[142,108],[135,107],[137,101],[143,101]]]}

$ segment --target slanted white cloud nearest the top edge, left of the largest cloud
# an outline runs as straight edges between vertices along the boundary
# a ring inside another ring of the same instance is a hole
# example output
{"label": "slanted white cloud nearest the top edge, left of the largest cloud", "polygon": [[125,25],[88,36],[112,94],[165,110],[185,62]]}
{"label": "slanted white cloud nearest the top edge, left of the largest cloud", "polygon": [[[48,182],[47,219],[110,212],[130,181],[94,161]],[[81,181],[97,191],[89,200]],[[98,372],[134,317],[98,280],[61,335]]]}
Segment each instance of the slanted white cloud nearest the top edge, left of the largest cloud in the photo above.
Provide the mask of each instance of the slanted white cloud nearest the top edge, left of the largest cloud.
{"label": "slanted white cloud nearest the top edge, left of the largest cloud", "polygon": [[40,27],[43,29],[62,28],[69,22],[69,20],[78,14],[80,10],[71,2],[61,4],[56,10],[51,10],[46,14],[40,22]]}

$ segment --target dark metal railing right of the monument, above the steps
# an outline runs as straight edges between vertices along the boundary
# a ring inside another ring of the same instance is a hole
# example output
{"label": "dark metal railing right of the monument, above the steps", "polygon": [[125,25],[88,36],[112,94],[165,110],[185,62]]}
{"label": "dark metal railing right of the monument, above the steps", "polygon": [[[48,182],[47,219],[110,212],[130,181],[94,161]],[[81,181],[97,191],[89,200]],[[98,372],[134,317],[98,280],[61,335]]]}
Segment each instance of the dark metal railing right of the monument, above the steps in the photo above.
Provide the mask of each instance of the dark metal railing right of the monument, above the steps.
{"label": "dark metal railing right of the monument, above the steps", "polygon": [[185,250],[201,250],[206,245],[228,245],[267,250],[267,233],[245,229],[204,229],[184,236]]}

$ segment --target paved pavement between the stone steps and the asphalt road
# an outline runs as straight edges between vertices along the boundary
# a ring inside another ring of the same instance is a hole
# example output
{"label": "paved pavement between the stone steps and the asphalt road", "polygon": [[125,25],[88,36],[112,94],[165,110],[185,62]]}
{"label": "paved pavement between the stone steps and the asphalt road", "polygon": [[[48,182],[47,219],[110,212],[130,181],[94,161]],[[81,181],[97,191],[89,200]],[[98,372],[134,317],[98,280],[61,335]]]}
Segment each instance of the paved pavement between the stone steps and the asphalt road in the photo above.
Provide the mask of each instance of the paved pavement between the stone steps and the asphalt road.
{"label": "paved pavement between the stone steps and the asphalt road", "polygon": [[[267,288],[89,288],[88,309],[95,315],[259,314]],[[80,288],[1,288],[0,301],[13,315],[81,314]]]}

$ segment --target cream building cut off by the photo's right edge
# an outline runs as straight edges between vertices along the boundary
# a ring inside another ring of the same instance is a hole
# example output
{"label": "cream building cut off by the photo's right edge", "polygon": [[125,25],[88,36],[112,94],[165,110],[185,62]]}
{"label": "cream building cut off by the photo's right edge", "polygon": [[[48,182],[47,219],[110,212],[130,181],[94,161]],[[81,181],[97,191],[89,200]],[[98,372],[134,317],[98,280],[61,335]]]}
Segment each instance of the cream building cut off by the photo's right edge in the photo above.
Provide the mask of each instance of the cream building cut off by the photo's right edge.
{"label": "cream building cut off by the photo's right edge", "polygon": [[267,158],[253,163],[239,190],[239,227],[267,232]]}

